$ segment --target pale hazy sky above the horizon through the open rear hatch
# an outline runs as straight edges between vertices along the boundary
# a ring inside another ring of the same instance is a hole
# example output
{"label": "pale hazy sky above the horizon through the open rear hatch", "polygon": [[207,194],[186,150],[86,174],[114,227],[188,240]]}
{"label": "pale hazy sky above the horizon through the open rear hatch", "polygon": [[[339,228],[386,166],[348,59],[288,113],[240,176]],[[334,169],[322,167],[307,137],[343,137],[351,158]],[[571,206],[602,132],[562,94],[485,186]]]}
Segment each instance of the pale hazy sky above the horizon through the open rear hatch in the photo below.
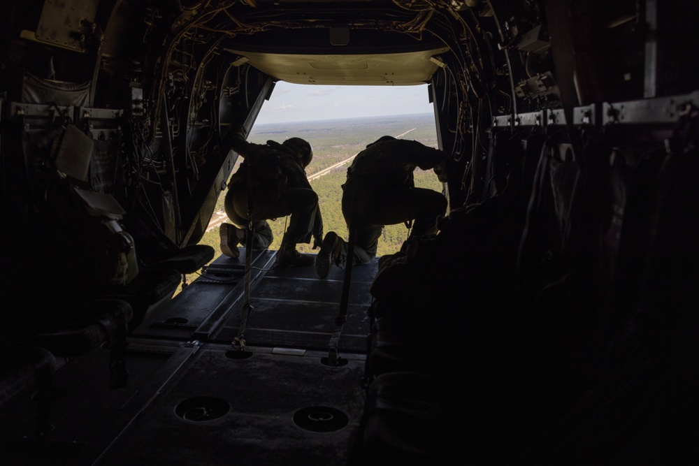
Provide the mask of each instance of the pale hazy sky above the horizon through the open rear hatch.
{"label": "pale hazy sky above the horizon through the open rear hatch", "polygon": [[432,113],[427,85],[320,86],[279,81],[256,124]]}

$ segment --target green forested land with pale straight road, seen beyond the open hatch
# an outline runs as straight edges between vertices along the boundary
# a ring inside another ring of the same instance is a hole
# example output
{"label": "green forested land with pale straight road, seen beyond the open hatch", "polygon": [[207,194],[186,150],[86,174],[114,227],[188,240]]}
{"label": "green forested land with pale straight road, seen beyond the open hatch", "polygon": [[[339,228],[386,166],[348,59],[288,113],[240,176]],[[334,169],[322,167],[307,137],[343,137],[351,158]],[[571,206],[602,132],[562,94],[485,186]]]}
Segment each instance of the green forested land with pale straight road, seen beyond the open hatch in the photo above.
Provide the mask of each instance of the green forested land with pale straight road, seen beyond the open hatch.
{"label": "green forested land with pale straight road, seen beyond the open hatch", "polygon": [[[311,186],[319,197],[324,230],[326,233],[336,231],[338,235],[347,239],[347,226],[340,210],[343,192],[341,185],[345,182],[347,167],[353,157],[381,136],[412,139],[430,147],[438,147],[434,116],[429,113],[261,124],[253,127],[247,140],[258,144],[264,144],[268,140],[282,143],[285,139],[292,137],[308,140],[313,147],[313,160],[306,172]],[[240,159],[236,163],[236,169],[238,163]],[[423,171],[417,168],[415,184],[419,187],[442,191],[442,183],[432,170]],[[224,221],[229,221],[223,207],[225,194],[226,190],[222,191],[209,228],[200,241],[201,244],[214,247],[217,255],[220,254],[218,226]],[[288,217],[276,219],[270,223],[275,236],[271,249],[279,249]],[[378,255],[397,252],[407,237],[408,229],[404,224],[386,226],[379,241]],[[306,253],[317,252],[312,251],[310,245],[298,245],[298,250]]]}

